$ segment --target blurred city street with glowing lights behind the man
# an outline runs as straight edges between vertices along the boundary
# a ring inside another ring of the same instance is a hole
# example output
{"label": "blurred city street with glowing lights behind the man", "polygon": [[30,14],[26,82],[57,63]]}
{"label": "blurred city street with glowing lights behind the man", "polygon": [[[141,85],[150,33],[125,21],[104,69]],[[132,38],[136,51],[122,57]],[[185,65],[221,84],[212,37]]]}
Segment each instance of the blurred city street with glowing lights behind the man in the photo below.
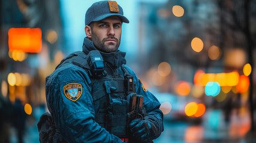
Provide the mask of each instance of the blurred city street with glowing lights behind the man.
{"label": "blurred city street with glowing lights behind the man", "polygon": [[[39,142],[45,77],[82,50],[94,2],[0,2],[0,142]],[[117,2],[119,49],[165,114],[154,142],[256,142],[256,1]]]}

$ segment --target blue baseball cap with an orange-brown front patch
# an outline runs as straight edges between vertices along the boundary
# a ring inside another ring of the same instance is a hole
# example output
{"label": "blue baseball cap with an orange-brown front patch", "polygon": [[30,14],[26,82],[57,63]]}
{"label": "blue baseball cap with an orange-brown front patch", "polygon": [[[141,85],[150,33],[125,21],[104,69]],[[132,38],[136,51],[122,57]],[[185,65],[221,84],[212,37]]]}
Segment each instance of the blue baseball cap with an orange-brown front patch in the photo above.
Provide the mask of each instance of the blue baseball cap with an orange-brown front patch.
{"label": "blue baseball cap with an orange-brown front patch", "polygon": [[85,25],[89,25],[93,21],[100,21],[110,16],[117,16],[124,23],[129,20],[124,16],[124,11],[116,1],[99,1],[95,2],[88,8],[85,14]]}

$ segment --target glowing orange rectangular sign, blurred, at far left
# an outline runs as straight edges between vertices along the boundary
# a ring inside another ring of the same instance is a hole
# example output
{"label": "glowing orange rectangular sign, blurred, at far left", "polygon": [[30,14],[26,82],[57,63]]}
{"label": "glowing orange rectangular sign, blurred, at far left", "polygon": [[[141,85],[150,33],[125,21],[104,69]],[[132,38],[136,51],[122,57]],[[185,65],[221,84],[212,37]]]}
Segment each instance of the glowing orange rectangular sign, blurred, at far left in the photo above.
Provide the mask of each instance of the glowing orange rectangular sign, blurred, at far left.
{"label": "glowing orange rectangular sign, blurred, at far left", "polygon": [[11,28],[8,32],[9,50],[22,52],[40,52],[42,49],[42,31],[39,28]]}

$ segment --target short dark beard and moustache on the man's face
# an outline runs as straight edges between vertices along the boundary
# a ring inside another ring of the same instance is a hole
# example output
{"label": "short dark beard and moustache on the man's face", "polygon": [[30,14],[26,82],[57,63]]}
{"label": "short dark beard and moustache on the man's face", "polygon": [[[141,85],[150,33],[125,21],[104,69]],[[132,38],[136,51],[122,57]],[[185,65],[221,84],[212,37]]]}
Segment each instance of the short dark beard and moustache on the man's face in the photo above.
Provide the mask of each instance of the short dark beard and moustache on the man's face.
{"label": "short dark beard and moustache on the man's face", "polygon": [[[98,51],[107,52],[107,53],[117,51],[121,42],[121,39],[118,40],[114,36],[109,36],[107,38],[102,39],[102,41],[100,41],[100,38],[98,38],[98,36],[95,35],[95,33],[93,32],[91,35],[91,39],[94,43],[95,48],[97,48]],[[115,39],[116,43],[110,42],[110,43],[104,44],[104,42],[106,42],[108,39]]]}

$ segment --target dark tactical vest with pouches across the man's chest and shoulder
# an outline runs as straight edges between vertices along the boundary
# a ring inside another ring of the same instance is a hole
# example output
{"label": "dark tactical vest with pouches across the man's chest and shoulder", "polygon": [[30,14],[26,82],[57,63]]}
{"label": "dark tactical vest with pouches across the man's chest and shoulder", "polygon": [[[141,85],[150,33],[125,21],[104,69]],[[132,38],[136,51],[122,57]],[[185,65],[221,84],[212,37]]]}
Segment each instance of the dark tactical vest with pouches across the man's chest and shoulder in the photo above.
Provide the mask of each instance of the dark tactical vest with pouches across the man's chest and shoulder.
{"label": "dark tactical vest with pouches across the man's chest and shoulder", "polygon": [[[87,58],[88,56],[84,52],[73,52],[64,58],[56,69],[63,64],[71,63],[82,67],[89,75],[91,67]],[[94,120],[113,135],[119,138],[128,138],[128,101],[127,94],[125,94],[127,89],[125,88],[124,74],[129,73],[124,66],[116,70],[119,70],[117,75],[90,76],[95,111]]]}

